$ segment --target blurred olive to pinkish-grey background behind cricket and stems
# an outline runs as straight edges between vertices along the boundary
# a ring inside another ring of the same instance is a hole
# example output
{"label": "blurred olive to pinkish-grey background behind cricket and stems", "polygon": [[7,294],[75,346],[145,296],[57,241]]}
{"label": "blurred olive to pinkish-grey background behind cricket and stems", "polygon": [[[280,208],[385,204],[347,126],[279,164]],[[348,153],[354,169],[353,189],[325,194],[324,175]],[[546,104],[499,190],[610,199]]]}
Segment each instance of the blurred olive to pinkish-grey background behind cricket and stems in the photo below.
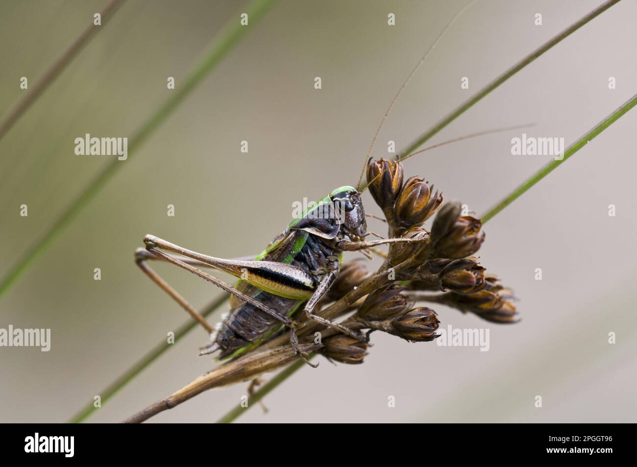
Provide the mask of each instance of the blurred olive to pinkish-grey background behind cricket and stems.
{"label": "blurred olive to pinkish-grey background behind cricket and stems", "polygon": [[[124,168],[0,299],[0,327],[52,330],[50,352],[0,348],[0,421],[68,420],[187,320],[134,265],[144,234],[218,257],[255,254],[287,226],[292,202],[354,185],[392,97],[464,3],[276,3],[147,143],[118,162]],[[388,140],[405,147],[600,3],[478,1],[404,90],[373,155],[387,157]],[[0,3],[0,110],[24,93],[20,77],[35,83],[105,4]],[[111,161],[75,155],[75,138],[130,138],[175,92],[166,78],[179,87],[246,4],[127,0],[103,26],[0,141],[0,277]],[[529,136],[564,137],[568,145],[636,92],[629,20],[636,15],[634,0],[613,6],[431,143],[535,123],[524,130]],[[616,89],[608,89],[610,76]],[[435,308],[442,327],[489,328],[489,352],[375,333],[364,364],[321,358],[317,370],[302,368],[264,399],[267,415],[255,407],[238,421],[637,421],[636,124],[633,110],[486,224],[482,262],[515,290],[522,321],[497,326]],[[427,152],[407,161],[405,173],[480,215],[550,159],[511,155],[511,138],[521,133]],[[369,194],[364,201],[380,214]],[[28,217],[19,215],[22,204]],[[169,204],[175,217],[166,214]],[[536,268],[543,280],[535,280]],[[157,271],[197,308],[220,294],[173,266]],[[609,332],[617,333],[615,345]],[[203,330],[191,331],[88,421],[122,420],[210,370],[210,358],[197,357],[206,340]],[[204,392],[151,421],[213,422],[244,394],[247,384]]]}

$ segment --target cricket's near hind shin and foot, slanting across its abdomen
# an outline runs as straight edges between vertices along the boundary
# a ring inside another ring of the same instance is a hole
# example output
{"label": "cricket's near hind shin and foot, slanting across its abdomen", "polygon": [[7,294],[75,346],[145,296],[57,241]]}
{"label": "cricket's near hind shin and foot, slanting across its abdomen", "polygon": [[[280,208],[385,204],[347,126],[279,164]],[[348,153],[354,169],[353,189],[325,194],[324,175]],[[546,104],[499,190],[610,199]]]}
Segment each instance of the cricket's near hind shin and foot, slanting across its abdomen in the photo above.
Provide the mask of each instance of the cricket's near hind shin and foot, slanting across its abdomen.
{"label": "cricket's near hind shin and foot, slanting across its abdomen", "polygon": [[[230,294],[233,294],[234,296],[236,296],[236,298],[239,298],[247,303],[250,303],[250,305],[255,306],[255,308],[259,308],[259,310],[261,310],[262,312],[270,315],[276,320],[279,320],[280,322],[285,324],[285,326],[290,327],[290,345],[292,345],[292,348],[294,348],[294,352],[296,352],[296,354],[299,355],[303,359],[303,361],[305,361],[305,363],[316,368],[314,364],[308,361],[307,359],[308,355],[305,352],[301,351],[301,349],[299,348],[298,338],[296,336],[296,332],[294,332],[296,327],[298,327],[298,324],[294,322],[294,320],[290,319],[287,316],[282,316],[276,313],[275,310],[273,310],[272,308],[269,308],[269,306],[266,306],[263,303],[255,300],[254,298],[244,294],[243,292],[238,291],[232,285],[226,284],[224,281],[214,276],[211,276],[208,273],[204,273],[204,271],[201,271],[200,269],[197,269],[194,266],[191,266],[190,264],[187,264],[187,262],[177,259],[176,257],[173,257],[157,249],[157,248],[161,248],[162,246],[162,240],[160,238],[154,237],[153,241],[147,241],[147,238],[145,238],[144,240],[145,240],[145,243],[147,243],[146,248],[148,252],[150,252],[151,254],[154,254],[157,257],[160,257],[161,259],[171,262],[172,264],[175,264],[176,266],[179,266],[180,268],[185,269],[186,271],[189,271],[193,273],[194,275],[201,277],[204,280],[207,280],[208,282],[211,282],[214,285],[217,285],[217,287],[219,287],[220,289]],[[172,246],[171,243],[168,243],[168,244]],[[188,253],[188,250],[185,250],[185,249],[182,249],[181,251],[179,251],[179,254],[182,254],[185,256],[188,256],[187,253]],[[192,259],[196,260],[196,258],[192,258]]]}

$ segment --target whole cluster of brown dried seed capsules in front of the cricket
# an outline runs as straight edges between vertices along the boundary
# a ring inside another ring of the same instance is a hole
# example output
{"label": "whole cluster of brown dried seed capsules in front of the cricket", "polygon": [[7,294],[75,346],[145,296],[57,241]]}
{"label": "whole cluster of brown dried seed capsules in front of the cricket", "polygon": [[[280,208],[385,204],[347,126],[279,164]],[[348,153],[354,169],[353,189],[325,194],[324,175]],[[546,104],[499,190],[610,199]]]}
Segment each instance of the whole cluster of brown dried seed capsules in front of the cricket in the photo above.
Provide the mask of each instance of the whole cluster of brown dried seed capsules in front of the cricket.
{"label": "whole cluster of brown dried seed capsules in front of the cricket", "polygon": [[[499,284],[496,276],[488,275],[475,256],[485,239],[480,233],[482,221],[462,215],[460,203],[443,205],[442,194],[422,177],[412,176],[404,182],[403,178],[400,162],[370,159],[369,191],[385,214],[389,236],[408,241],[391,243],[383,268],[395,274],[380,285],[380,275],[369,276],[361,264],[343,266],[330,298],[339,299],[353,287],[365,287],[368,280],[374,284],[345,324],[408,341],[434,340],[438,315],[426,306],[414,307],[416,301],[443,303],[492,322],[517,322],[513,292]],[[423,224],[434,214],[428,231]],[[367,348],[365,342],[336,334],[326,338],[321,351],[335,361],[362,363]]]}

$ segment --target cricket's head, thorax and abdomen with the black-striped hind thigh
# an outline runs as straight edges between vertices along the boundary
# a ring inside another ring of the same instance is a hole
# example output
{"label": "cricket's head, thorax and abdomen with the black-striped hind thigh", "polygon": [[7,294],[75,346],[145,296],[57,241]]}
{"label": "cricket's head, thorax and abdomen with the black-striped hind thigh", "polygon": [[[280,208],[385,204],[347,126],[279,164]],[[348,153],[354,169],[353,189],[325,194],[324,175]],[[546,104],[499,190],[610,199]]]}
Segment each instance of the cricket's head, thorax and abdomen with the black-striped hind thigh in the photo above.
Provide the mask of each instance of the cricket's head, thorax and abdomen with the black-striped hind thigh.
{"label": "cricket's head, thorax and abdomen with the black-striped hind thigh", "polygon": [[[309,299],[326,273],[340,269],[338,241],[362,240],[366,220],[354,187],[333,190],[317,205],[292,220],[255,261],[229,261],[220,267],[238,275],[236,289],[290,317]],[[277,268],[275,263],[296,266]],[[234,357],[273,334],[280,321],[235,296],[230,311],[211,336],[220,358]]]}

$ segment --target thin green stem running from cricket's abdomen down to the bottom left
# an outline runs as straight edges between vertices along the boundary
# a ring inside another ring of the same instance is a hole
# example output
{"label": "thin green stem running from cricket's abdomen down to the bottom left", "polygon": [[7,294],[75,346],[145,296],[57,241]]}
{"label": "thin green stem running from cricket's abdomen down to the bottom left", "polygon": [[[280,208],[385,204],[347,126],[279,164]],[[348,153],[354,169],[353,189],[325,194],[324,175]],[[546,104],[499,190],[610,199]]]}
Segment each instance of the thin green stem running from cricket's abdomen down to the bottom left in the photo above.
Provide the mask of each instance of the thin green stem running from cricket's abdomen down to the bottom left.
{"label": "thin green stem running from cricket's abdomen down to the bottom left", "polygon": [[[207,317],[208,315],[210,315],[210,313],[217,310],[219,306],[223,305],[225,301],[227,300],[227,298],[228,298],[227,295],[223,294],[222,296],[217,298],[215,301],[212,301],[211,303],[208,304],[208,306],[206,306],[206,308],[201,310],[201,315],[203,317]],[[185,324],[183,324],[182,326],[180,326],[175,331],[175,343],[177,343],[177,341],[180,340],[180,338],[185,336],[185,334],[189,333],[189,331],[195,326],[197,326],[197,324],[199,323],[197,323],[194,319],[191,319]],[[106,387],[103,391],[98,392],[101,398],[101,403],[102,404],[106,403],[106,401],[108,401],[108,399],[113,397],[117,391],[122,389],[122,387],[124,387],[134,377],[139,375],[141,371],[145,370],[145,368],[147,368],[151,363],[157,360],[159,356],[161,356],[161,354],[166,352],[166,350],[168,350],[171,347],[171,345],[175,345],[175,344],[169,344],[166,340],[161,341],[160,343],[155,345],[155,347],[150,349],[145,356],[141,357],[141,359],[139,359],[133,366],[131,366],[131,368],[125,371],[125,373],[123,373],[119,378],[117,378],[110,385],[108,385],[108,387]],[[81,423],[84,420],[86,420],[90,415],[92,415],[92,413],[94,413],[97,410],[97,407],[93,405],[93,402],[94,401],[90,401],[89,403],[87,403],[87,405],[83,406],[82,410],[80,410],[78,413],[73,415],[71,419],[68,420],[68,423]]]}

